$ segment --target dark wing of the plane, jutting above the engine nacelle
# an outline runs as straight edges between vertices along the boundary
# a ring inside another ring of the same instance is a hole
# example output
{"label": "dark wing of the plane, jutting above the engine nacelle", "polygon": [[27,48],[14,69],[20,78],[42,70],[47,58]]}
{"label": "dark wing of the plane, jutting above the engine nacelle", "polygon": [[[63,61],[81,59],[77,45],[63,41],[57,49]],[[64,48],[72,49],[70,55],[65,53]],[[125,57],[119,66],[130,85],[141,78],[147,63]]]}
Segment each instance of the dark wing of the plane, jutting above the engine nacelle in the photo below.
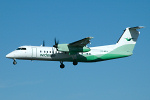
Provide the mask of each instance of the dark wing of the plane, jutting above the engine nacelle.
{"label": "dark wing of the plane, jutting above the engine nacelle", "polygon": [[81,40],[79,40],[79,41],[70,43],[70,44],[68,44],[68,45],[69,45],[69,46],[84,47],[84,46],[86,46],[88,43],[90,43],[90,40],[91,40],[92,38],[93,38],[93,37],[87,37],[87,38],[81,39]]}

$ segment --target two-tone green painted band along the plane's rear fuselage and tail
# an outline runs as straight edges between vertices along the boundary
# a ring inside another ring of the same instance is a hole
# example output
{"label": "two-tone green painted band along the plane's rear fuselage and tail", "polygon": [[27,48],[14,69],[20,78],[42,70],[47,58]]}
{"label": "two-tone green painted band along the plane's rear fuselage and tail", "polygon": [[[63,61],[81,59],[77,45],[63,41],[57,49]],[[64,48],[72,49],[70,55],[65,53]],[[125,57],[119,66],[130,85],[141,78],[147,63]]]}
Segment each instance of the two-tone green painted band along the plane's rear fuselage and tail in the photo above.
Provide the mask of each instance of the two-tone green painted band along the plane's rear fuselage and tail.
{"label": "two-tone green painted band along the plane's rear fuselage and tail", "polygon": [[117,59],[122,57],[128,57],[132,55],[135,44],[127,44],[112,50],[107,54],[98,55],[80,55],[78,56],[79,62],[96,62],[110,59]]}

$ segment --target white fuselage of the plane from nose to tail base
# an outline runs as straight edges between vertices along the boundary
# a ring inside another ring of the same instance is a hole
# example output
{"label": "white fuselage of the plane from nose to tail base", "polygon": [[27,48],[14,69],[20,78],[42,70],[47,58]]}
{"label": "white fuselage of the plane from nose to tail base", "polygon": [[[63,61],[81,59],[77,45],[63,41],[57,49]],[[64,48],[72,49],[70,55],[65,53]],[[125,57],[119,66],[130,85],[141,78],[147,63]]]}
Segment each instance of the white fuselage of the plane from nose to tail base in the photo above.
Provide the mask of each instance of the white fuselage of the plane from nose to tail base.
{"label": "white fuselage of the plane from nose to tail base", "polygon": [[[68,52],[57,51],[54,47],[21,46],[13,52],[7,54],[6,57],[11,59],[24,60],[73,61],[74,59],[77,59],[78,56],[85,58],[86,56],[106,54],[113,49],[112,47],[114,47],[110,46],[92,47],[90,48],[91,51],[89,52],[79,52],[75,55],[70,55]],[[80,60],[79,62],[87,61]]]}

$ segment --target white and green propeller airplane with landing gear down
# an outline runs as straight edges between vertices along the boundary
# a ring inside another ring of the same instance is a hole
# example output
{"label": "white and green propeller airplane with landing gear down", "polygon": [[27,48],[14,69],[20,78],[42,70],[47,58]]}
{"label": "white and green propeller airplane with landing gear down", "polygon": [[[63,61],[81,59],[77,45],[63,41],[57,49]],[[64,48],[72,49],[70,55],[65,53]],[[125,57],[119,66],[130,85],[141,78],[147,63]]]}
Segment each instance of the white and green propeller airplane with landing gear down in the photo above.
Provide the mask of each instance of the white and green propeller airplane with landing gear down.
{"label": "white and green propeller airplane with landing gear down", "polygon": [[64,68],[63,62],[98,62],[117,58],[128,57],[133,54],[133,49],[140,34],[137,29],[143,26],[127,27],[116,44],[106,46],[88,47],[87,44],[93,37],[86,37],[69,44],[59,44],[55,38],[53,47],[46,47],[45,42],[41,46],[21,46],[6,55],[6,58],[21,60],[59,61],[60,68]]}

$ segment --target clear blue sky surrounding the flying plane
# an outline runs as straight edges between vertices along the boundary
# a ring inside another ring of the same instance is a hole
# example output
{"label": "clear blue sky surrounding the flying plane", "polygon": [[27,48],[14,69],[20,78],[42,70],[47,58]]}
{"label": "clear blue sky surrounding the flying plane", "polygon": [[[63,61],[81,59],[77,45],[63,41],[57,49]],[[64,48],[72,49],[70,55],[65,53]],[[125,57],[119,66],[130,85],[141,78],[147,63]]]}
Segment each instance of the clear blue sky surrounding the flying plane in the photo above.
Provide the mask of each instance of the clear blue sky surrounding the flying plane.
{"label": "clear blue sky surrounding the flying plane", "polygon": [[[0,100],[150,100],[150,0],[0,0]],[[22,45],[115,44],[145,26],[134,55],[96,63],[7,59]]]}

